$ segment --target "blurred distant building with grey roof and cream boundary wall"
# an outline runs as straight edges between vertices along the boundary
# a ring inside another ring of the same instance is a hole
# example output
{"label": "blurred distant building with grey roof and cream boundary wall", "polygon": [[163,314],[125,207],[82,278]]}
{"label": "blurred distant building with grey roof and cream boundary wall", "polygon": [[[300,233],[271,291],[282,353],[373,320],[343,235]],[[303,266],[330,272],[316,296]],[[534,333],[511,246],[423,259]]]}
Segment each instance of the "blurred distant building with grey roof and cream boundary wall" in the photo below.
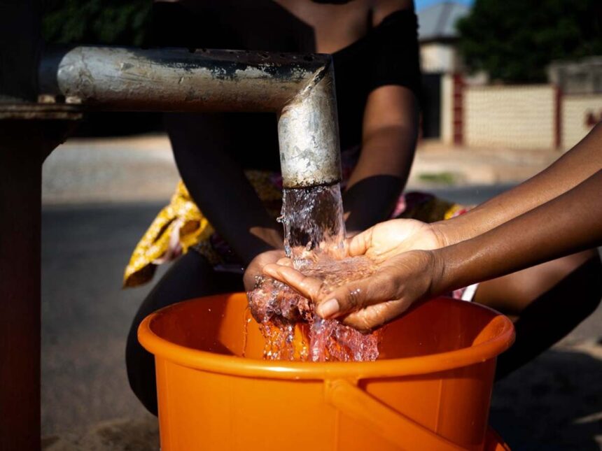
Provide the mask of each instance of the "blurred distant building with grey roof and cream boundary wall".
{"label": "blurred distant building with grey roof and cream boundary wall", "polygon": [[567,150],[602,122],[602,56],[552,62],[549,83],[489,85],[469,76],[456,23],[470,7],[444,1],[420,10],[423,138],[481,148]]}

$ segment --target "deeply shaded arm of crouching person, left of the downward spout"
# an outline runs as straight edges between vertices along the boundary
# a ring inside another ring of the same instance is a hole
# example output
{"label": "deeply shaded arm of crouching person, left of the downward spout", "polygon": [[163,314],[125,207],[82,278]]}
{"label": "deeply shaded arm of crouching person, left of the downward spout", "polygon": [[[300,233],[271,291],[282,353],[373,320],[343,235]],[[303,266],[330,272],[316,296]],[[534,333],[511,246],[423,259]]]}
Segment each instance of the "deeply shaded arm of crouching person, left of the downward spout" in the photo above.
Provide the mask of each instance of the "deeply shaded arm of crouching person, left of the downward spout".
{"label": "deeply shaded arm of crouching person, left of the downward spout", "polygon": [[228,143],[226,118],[170,114],[165,118],[180,174],[197,206],[243,262],[281,245],[269,217]]}

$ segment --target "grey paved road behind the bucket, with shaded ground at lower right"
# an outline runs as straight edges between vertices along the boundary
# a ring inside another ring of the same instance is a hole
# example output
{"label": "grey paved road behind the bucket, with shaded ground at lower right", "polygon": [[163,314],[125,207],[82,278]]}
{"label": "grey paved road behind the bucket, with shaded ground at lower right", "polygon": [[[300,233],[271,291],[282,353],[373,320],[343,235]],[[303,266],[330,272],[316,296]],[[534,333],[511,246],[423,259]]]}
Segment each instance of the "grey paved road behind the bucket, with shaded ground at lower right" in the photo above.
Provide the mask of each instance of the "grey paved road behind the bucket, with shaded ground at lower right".
{"label": "grey paved road behind the bucket, with shaded ground at lower right", "polygon": [[[505,188],[437,194],[478,203]],[[94,442],[84,449],[156,449],[155,422],[130,392],[123,358],[130,321],[149,287],[123,291],[120,281],[132,246],[160,207],[122,203],[43,210],[42,422],[48,450],[73,449],[73,443],[84,448],[92,443],[90,434],[109,445],[98,448]],[[591,342],[602,335],[601,320],[598,309],[568,345],[498,385],[492,421],[514,449],[599,449],[594,437],[602,441],[602,352]],[[583,343],[590,345],[580,348]]]}

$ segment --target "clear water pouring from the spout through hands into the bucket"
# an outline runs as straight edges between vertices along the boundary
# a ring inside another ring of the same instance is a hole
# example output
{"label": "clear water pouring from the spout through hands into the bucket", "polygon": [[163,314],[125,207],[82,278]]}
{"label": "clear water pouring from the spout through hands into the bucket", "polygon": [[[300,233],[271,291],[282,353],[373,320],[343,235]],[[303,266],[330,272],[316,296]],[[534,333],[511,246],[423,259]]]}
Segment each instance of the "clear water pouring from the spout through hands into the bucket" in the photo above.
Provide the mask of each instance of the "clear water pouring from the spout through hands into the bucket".
{"label": "clear water pouring from the spout through hands into the bucket", "polygon": [[[323,292],[365,278],[374,264],[344,257],[345,226],[339,185],[285,189],[282,215],[286,255],[293,266],[323,280]],[[277,280],[258,278],[249,306],[265,337],[265,359],[373,361],[379,334],[361,334],[338,320],[323,320],[314,303]]]}

